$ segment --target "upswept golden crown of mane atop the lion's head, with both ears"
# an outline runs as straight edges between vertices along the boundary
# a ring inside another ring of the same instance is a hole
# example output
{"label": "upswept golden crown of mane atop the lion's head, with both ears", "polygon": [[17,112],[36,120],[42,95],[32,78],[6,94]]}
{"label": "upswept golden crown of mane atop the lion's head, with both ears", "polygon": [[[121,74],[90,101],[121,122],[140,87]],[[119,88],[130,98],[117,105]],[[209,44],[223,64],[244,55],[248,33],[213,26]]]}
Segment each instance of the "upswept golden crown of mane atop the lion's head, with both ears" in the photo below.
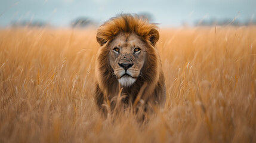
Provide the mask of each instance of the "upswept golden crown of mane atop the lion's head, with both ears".
{"label": "upswept golden crown of mane atop the lion's head, with both ears", "polygon": [[100,45],[103,45],[121,32],[134,32],[144,40],[155,44],[159,39],[156,28],[158,28],[156,24],[149,23],[146,18],[140,18],[138,15],[120,14],[117,17],[110,18],[109,21],[100,26],[97,32],[97,41]]}

